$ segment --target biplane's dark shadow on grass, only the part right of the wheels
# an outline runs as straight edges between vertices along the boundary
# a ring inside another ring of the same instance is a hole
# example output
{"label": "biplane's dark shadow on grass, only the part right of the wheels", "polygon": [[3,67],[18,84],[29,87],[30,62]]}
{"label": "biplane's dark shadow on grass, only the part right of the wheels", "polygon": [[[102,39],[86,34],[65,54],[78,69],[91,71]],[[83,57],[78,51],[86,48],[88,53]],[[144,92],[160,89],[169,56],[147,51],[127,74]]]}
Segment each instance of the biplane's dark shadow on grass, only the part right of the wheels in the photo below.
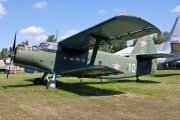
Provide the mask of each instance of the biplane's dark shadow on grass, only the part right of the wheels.
{"label": "biplane's dark shadow on grass, only the part right of the wheels", "polygon": [[[126,94],[125,92],[113,91],[101,88],[95,88],[92,86],[87,86],[89,84],[110,84],[110,83],[123,83],[123,82],[135,82],[130,80],[117,80],[117,81],[105,81],[101,82],[83,82],[83,83],[64,83],[57,81],[57,88],[60,90],[69,91],[82,96],[109,96],[109,95],[118,95]],[[159,83],[154,81],[143,81],[140,83]]]}

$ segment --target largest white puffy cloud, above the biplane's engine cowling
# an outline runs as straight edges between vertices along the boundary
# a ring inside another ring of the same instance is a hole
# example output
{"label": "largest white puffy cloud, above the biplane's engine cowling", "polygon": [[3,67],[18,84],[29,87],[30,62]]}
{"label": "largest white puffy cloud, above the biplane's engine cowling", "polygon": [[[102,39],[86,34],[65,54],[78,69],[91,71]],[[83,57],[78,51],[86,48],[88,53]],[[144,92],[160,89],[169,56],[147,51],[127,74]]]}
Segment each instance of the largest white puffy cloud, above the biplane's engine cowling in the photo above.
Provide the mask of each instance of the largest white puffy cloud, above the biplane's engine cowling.
{"label": "largest white puffy cloud, above the biplane's engine cowling", "polygon": [[41,27],[30,26],[20,30],[20,38],[25,40],[45,41],[47,36],[44,34],[44,29]]}

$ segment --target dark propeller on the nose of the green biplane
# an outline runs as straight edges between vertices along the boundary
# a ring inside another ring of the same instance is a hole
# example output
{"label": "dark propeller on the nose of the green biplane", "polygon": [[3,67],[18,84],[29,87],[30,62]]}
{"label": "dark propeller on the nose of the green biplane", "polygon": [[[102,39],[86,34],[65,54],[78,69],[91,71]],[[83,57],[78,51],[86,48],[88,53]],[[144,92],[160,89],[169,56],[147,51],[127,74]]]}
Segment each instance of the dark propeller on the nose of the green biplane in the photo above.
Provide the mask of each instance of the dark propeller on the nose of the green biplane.
{"label": "dark propeller on the nose of the green biplane", "polygon": [[[16,31],[15,36],[14,36],[13,48],[10,47],[10,49],[9,49],[9,51],[10,51],[9,56],[11,57],[10,65],[11,65],[11,62],[14,60],[14,55],[15,55],[15,48],[16,48],[16,34],[17,34],[17,31]],[[9,69],[8,69],[8,71],[7,71],[7,76],[6,76],[6,78],[8,78],[8,76],[9,76],[10,65],[9,65]]]}

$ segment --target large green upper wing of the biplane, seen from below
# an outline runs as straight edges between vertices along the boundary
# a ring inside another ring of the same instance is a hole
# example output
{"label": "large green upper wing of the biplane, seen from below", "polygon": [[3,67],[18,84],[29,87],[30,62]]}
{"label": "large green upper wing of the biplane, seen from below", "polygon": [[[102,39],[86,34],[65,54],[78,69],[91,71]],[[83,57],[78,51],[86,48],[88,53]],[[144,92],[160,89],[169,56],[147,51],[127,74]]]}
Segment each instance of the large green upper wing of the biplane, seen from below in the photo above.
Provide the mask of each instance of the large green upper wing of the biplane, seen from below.
{"label": "large green upper wing of the biplane, seen from below", "polygon": [[118,14],[111,19],[60,41],[58,45],[87,50],[96,44],[97,40],[101,41],[101,43],[107,42],[113,44],[157,32],[159,32],[159,29],[156,26],[140,17]]}

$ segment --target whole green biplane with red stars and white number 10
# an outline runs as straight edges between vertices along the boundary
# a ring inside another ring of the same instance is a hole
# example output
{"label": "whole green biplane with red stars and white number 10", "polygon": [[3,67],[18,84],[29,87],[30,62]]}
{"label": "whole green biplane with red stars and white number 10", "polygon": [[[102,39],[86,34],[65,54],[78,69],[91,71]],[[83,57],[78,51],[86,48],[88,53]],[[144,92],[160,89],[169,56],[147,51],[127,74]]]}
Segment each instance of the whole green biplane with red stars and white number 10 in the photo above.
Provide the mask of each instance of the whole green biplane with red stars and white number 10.
{"label": "whole green biplane with red stars and white number 10", "polygon": [[[16,66],[26,72],[44,72],[34,84],[43,83],[47,74],[46,88],[56,88],[56,77],[74,76],[78,78],[119,78],[150,74],[156,69],[154,58],[169,57],[157,54],[153,41],[142,38],[128,58],[98,51],[102,44],[121,43],[145,35],[159,32],[159,29],[140,17],[118,14],[100,24],[77,33],[58,43],[42,42],[37,47],[16,46],[16,34],[11,57]],[[8,77],[8,74],[7,74]]]}

